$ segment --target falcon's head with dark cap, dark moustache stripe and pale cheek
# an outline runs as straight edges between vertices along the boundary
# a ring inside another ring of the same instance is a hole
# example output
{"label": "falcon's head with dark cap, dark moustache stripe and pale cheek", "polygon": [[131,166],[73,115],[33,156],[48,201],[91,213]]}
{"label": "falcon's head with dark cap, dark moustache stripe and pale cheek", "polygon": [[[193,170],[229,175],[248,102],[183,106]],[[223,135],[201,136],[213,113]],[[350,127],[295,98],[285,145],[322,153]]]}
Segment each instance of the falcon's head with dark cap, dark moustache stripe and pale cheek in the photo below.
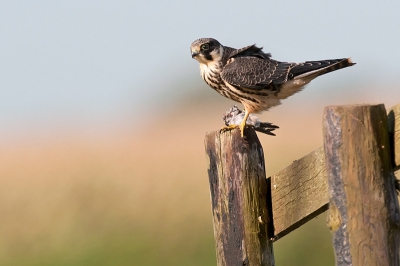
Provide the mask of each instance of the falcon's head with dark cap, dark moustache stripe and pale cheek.
{"label": "falcon's head with dark cap, dark moustache stripe and pale cheek", "polygon": [[217,62],[222,59],[224,47],[215,39],[201,38],[190,45],[192,58],[202,64]]}

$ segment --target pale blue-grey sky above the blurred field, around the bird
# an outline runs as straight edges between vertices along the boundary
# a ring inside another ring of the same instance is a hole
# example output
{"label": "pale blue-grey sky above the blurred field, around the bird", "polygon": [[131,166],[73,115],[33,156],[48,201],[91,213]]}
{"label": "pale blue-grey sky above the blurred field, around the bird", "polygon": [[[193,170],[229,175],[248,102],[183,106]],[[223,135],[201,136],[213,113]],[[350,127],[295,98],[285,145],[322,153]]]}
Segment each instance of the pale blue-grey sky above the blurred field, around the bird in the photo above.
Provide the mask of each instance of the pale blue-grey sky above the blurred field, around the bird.
{"label": "pale blue-grey sky above the blurred field, around the bird", "polygon": [[189,52],[200,37],[257,43],[282,61],[352,57],[355,67],[314,81],[325,91],[307,90],[390,107],[400,102],[399,12],[398,0],[3,0],[0,134],[90,130],[208,93]]}

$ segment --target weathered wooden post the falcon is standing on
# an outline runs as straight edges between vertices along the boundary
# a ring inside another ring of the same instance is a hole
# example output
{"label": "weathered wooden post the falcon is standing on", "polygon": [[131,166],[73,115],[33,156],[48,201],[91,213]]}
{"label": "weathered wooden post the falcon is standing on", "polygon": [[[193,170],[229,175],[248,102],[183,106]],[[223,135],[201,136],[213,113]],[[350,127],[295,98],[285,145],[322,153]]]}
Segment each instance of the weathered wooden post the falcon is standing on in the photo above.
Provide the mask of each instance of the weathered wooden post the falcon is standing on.
{"label": "weathered wooden post the falcon is standing on", "polygon": [[[205,138],[218,266],[272,266],[270,189],[253,129]],[[269,203],[268,203],[269,202]]]}

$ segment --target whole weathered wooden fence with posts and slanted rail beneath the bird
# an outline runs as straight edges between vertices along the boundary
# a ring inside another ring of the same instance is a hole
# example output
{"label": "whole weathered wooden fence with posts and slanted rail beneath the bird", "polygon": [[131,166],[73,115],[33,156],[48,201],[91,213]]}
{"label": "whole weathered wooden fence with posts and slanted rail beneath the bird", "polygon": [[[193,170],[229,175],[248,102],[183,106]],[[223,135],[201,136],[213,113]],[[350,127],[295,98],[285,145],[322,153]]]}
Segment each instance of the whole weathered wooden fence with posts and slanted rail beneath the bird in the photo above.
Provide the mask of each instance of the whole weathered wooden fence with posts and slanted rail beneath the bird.
{"label": "whole weathered wooden fence with posts and slanted rail beneath the bird", "polygon": [[336,265],[400,265],[400,104],[327,107],[323,135],[269,178],[253,129],[206,135],[218,266],[275,265],[273,242],[326,210]]}

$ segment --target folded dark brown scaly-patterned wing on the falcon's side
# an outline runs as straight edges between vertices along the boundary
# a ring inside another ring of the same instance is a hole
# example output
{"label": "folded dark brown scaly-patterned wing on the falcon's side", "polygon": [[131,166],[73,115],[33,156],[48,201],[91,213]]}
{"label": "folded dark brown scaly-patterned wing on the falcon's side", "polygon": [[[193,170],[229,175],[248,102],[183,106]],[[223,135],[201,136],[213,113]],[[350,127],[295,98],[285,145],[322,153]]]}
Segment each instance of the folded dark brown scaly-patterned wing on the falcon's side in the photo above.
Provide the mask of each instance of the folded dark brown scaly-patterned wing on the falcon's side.
{"label": "folded dark brown scaly-patterned wing on the falcon's side", "polygon": [[221,78],[234,86],[261,90],[271,83],[278,85],[286,82],[294,65],[258,57],[236,57],[224,66]]}

